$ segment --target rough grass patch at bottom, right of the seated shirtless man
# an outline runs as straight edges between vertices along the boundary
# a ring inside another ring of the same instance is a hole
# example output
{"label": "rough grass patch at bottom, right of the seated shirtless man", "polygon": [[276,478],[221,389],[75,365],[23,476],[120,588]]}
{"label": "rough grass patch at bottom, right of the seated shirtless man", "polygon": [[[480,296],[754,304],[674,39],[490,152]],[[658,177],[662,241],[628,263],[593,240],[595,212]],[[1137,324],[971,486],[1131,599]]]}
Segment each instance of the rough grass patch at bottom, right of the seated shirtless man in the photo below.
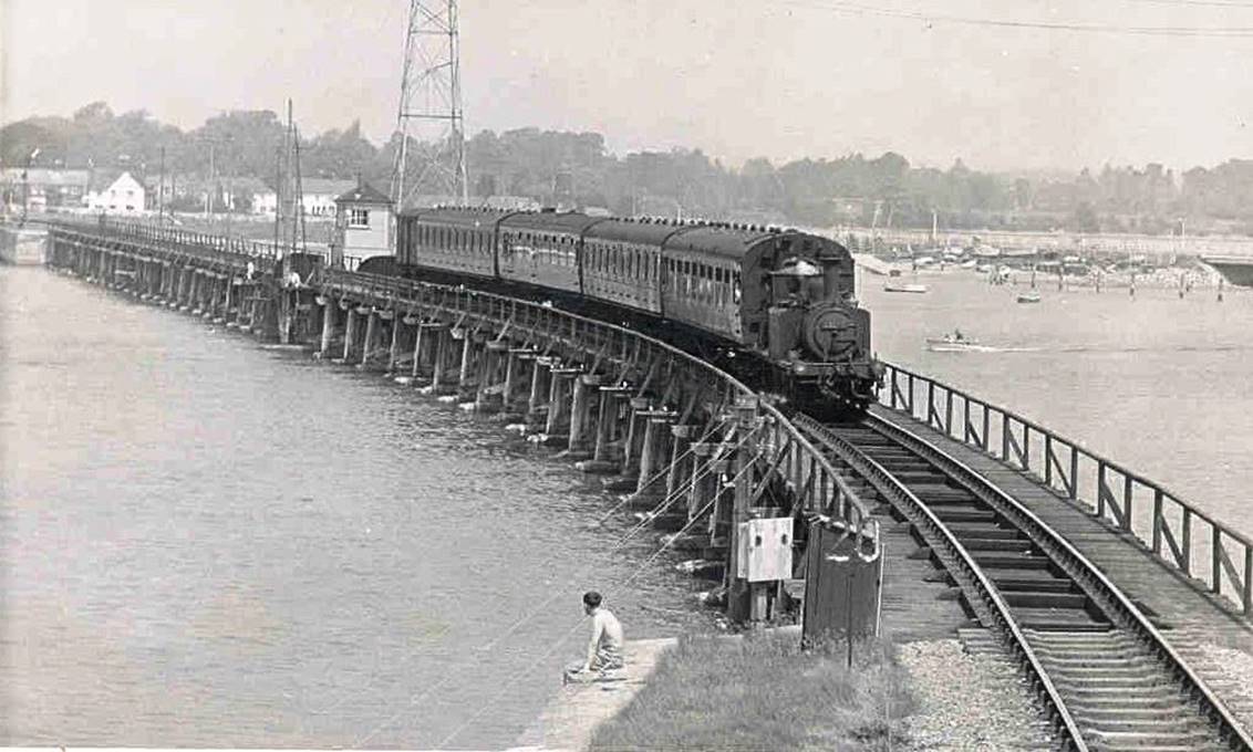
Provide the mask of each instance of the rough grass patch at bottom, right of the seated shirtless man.
{"label": "rough grass patch at bottom, right of the seated shirtless man", "polygon": [[684,638],[591,749],[888,749],[911,709],[888,648],[802,652],[798,637]]}

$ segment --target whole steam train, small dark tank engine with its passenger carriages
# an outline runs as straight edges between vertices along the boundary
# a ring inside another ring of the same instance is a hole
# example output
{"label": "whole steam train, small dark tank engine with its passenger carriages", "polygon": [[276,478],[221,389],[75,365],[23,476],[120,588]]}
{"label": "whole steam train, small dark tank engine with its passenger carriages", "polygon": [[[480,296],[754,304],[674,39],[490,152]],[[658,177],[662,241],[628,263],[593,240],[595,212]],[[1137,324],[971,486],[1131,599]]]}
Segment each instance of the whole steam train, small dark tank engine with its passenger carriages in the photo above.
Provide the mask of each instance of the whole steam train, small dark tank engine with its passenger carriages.
{"label": "whole steam train, small dark tank engine with its passenger carriages", "polygon": [[609,309],[797,403],[834,398],[865,409],[881,379],[870,313],[853,297],[852,257],[817,235],[576,211],[417,209],[397,220],[395,263],[407,277]]}

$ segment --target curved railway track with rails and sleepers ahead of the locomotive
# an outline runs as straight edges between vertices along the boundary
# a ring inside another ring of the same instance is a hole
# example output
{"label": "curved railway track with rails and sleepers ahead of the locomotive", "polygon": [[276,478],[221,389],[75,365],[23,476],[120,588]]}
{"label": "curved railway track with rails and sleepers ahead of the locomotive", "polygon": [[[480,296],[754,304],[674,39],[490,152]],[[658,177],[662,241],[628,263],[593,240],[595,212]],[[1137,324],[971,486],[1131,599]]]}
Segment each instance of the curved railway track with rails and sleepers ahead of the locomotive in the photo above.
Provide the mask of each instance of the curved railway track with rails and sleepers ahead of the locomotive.
{"label": "curved railway track with rails and sleepers ahead of the locomotive", "polygon": [[1014,657],[1063,749],[1242,749],[1253,739],[1116,586],[1011,497],[873,413],[794,418],[837,469],[907,522]]}

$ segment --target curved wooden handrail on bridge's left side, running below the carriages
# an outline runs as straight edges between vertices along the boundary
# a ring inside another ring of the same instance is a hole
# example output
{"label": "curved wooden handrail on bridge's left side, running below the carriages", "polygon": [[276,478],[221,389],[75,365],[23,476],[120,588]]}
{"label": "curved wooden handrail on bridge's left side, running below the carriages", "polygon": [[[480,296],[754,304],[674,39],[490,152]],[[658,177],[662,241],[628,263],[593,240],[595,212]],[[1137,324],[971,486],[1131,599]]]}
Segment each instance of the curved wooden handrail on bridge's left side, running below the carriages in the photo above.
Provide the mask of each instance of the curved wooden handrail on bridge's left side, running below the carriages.
{"label": "curved wooden handrail on bridge's left side, running below the carriages", "polygon": [[[804,455],[808,457],[812,464],[808,465],[807,470],[811,474],[811,480],[806,484],[806,488],[797,489],[803,497],[801,500],[808,508],[821,506],[821,499],[827,492],[831,492],[832,504],[838,511],[838,514],[843,517],[851,526],[860,526],[862,521],[868,519],[870,513],[865,503],[858,498],[858,495],[852,490],[848,483],[836,472],[834,467],[827,460],[821,452],[818,452],[813,444],[792,424],[787,417],[776,405],[769,404],[767,400],[759,398],[756,392],[753,392],[748,385],[746,385],[739,379],[728,374],[727,372],[719,369],[718,367],[702,360],[684,350],[680,350],[673,345],[664,342],[653,339],[639,332],[629,329],[626,327],[620,327],[618,324],[610,324],[601,322],[599,319],[593,319],[589,317],[583,317],[575,313],[544,305],[541,303],[533,303],[529,300],[520,300],[517,298],[510,298],[506,295],[499,295],[495,293],[487,293],[482,290],[476,290],[465,287],[454,287],[446,284],[436,284],[430,282],[419,282],[412,279],[405,279],[400,277],[386,277],[381,274],[368,274],[363,272],[346,272],[342,269],[326,268],[321,270],[321,283],[330,287],[338,287],[345,289],[351,285],[355,292],[363,292],[366,294],[372,294],[381,298],[390,298],[395,300],[396,298],[403,295],[417,295],[421,290],[426,292],[440,292],[442,294],[456,294],[465,295],[466,302],[469,299],[487,300],[497,305],[510,307],[512,310],[526,310],[528,315],[531,317],[530,320],[535,320],[539,317],[553,317],[559,315],[564,319],[571,322],[571,324],[578,324],[585,329],[598,329],[601,332],[615,332],[618,334],[625,334],[629,337],[640,338],[648,340],[652,347],[664,350],[672,358],[685,362],[688,365],[702,370],[713,379],[724,382],[730,390],[739,398],[751,399],[753,404],[761,409],[773,424],[774,432],[782,432],[782,437],[773,434],[777,443],[776,448],[778,450],[784,450],[782,445],[783,442],[791,445],[797,445],[801,448]],[[465,305],[462,309],[469,310],[471,307]],[[783,442],[779,442],[783,439]],[[801,462],[796,459],[796,462]]]}

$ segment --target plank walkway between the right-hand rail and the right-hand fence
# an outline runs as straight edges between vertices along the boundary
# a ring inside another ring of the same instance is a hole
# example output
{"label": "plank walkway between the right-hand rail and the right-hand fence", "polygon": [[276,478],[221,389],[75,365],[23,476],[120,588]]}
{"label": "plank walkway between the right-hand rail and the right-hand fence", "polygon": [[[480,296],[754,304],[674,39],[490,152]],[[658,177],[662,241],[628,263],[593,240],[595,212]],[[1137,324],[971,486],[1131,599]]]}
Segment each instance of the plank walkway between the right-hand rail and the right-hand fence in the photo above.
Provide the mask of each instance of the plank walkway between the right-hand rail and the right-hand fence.
{"label": "plank walkway between the right-hand rail and the right-hand fence", "polygon": [[871,409],[875,415],[935,443],[1065,537],[1149,616],[1175,649],[1194,662],[1194,668],[1228,707],[1242,714],[1247,712],[1248,691],[1233,686],[1222,667],[1204,658],[1208,646],[1253,654],[1253,623],[1234,603],[1214,596],[1204,583],[1154,556],[1133,534],[1113,528],[1035,477],[908,415],[882,407]]}

